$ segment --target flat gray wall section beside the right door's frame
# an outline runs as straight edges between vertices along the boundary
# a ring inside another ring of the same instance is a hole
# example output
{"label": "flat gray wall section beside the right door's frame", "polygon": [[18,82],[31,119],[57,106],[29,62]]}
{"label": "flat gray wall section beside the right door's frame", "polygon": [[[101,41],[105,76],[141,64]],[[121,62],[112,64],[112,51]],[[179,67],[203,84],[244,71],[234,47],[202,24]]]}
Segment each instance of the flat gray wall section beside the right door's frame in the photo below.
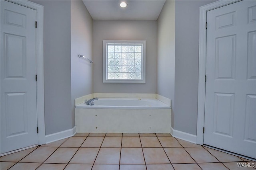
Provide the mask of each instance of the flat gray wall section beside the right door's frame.
{"label": "flat gray wall section beside the right door's frame", "polygon": [[214,1],[175,2],[175,130],[196,135],[199,7]]}

